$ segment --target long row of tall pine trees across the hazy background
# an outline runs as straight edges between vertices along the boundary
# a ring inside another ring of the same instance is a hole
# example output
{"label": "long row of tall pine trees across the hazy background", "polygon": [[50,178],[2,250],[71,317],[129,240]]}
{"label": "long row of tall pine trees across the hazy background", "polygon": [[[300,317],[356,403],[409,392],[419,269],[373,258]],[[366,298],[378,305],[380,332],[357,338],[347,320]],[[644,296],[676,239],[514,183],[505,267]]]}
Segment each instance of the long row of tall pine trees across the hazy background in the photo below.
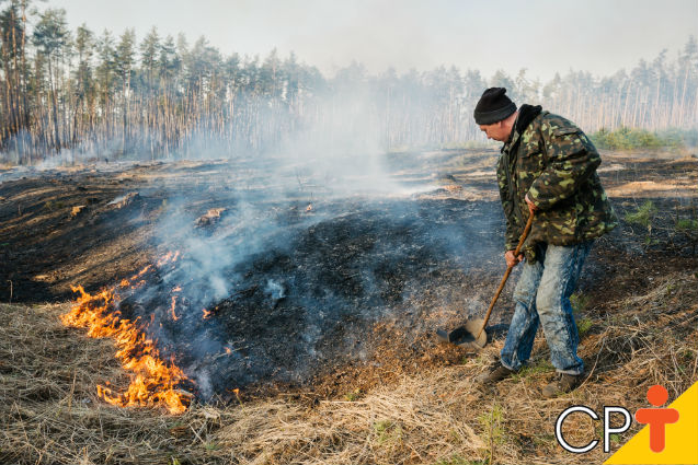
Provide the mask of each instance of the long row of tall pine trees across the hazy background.
{"label": "long row of tall pine trees across the hazy background", "polygon": [[[205,37],[138,42],[134,30],[70,31],[60,9],[0,0],[0,152],[34,164],[58,152],[92,158],[227,158],[375,139],[380,150],[481,140],[472,109],[490,85],[542,104],[586,131],[698,127],[698,44],[689,37],[630,71],[569,71],[549,82],[456,67],[370,75],[359,63],[324,77],[291,53],[226,56]],[[27,19],[28,16],[28,19]]]}

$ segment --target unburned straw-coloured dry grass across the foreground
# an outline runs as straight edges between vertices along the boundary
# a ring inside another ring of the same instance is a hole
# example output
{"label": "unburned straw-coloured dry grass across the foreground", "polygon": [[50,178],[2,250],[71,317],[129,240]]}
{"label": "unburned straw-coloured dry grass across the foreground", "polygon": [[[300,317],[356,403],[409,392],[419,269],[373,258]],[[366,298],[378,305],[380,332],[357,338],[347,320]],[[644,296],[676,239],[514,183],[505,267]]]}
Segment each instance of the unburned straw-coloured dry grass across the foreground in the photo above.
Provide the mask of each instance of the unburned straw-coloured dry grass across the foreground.
{"label": "unburned straw-coloured dry grass across the foreground", "polygon": [[[480,357],[361,394],[312,404],[278,397],[222,408],[193,405],[175,417],[122,409],[96,397],[106,380],[126,385],[108,340],[60,325],[62,306],[0,305],[2,464],[474,464],[597,463],[564,452],[557,416],[572,404],[599,411],[645,405],[646,387],[674,398],[697,379],[698,280],[665,277],[645,295],[591,309],[581,353],[590,379],[542,400],[553,375],[539,339],[530,369],[482,394],[472,385],[501,347]],[[570,441],[597,438],[598,423],[570,417]],[[625,442],[634,431],[626,433]],[[617,447],[618,444],[614,444]]]}

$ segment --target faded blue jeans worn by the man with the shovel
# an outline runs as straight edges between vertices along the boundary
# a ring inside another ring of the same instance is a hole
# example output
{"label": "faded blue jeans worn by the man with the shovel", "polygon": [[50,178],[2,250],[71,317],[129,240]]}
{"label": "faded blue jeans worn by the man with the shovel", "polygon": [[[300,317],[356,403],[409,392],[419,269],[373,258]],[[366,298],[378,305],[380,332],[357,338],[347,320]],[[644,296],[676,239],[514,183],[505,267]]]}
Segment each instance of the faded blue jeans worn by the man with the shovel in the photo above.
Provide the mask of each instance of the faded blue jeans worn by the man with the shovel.
{"label": "faded blue jeans worn by the man with the shovel", "polygon": [[580,335],[572,316],[570,295],[593,242],[542,245],[536,263],[523,264],[514,291],[516,310],[501,353],[504,367],[516,371],[528,360],[540,323],[550,348],[550,361],[557,371],[584,372],[584,362],[576,354]]}

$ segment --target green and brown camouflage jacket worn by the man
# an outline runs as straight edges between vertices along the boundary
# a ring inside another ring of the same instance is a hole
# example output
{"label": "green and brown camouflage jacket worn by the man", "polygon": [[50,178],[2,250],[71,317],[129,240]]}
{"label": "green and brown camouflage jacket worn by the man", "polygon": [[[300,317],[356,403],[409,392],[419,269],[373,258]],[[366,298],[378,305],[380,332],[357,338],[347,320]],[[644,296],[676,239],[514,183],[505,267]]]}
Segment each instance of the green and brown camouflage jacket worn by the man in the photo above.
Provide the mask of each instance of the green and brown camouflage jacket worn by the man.
{"label": "green and brown camouflage jacket worn by the man", "polygon": [[522,105],[497,163],[506,217],[506,249],[516,248],[528,220],[528,198],[538,207],[524,254],[536,260],[536,244],[572,245],[618,225],[596,167],[600,156],[572,121]]}

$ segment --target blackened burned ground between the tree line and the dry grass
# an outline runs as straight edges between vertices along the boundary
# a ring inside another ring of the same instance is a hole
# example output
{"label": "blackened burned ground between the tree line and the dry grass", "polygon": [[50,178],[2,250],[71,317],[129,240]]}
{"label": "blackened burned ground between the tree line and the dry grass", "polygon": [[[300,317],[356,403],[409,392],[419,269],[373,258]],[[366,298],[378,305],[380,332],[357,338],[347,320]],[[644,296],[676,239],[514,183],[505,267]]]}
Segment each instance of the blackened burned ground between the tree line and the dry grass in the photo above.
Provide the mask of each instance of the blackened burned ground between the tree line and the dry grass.
{"label": "blackened burned ground between the tree line and the dry grass", "polygon": [[[366,391],[460,360],[433,329],[481,313],[503,271],[494,160],[391,154],[399,191],[380,195],[346,194],[302,168],[267,178],[258,162],[5,173],[0,293],[62,302],[70,284],[96,291],[182,251],[176,266],[124,292],[119,310],[150,321],[201,397],[227,399],[236,387],[249,396]],[[594,309],[697,263],[695,158],[608,154],[600,174],[623,221],[598,241],[582,279]],[[646,201],[646,221],[630,221]],[[513,282],[494,328],[511,315]]]}

